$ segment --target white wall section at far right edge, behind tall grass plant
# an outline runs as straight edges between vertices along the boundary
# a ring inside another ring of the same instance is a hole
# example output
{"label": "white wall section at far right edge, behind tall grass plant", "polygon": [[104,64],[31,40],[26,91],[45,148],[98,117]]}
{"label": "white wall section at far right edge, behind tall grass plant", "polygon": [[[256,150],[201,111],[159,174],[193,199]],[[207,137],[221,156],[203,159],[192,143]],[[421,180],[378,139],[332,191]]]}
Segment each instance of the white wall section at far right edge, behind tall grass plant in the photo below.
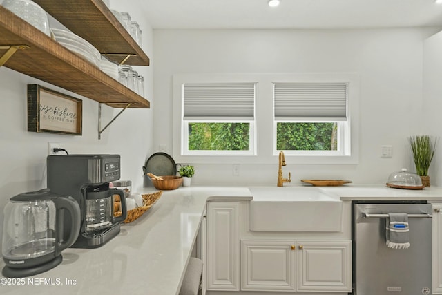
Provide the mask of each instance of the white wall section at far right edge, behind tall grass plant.
{"label": "white wall section at far right edge, behind tall grass plant", "polygon": [[439,137],[428,174],[432,184],[442,184],[442,32],[423,43],[423,117],[421,133]]}

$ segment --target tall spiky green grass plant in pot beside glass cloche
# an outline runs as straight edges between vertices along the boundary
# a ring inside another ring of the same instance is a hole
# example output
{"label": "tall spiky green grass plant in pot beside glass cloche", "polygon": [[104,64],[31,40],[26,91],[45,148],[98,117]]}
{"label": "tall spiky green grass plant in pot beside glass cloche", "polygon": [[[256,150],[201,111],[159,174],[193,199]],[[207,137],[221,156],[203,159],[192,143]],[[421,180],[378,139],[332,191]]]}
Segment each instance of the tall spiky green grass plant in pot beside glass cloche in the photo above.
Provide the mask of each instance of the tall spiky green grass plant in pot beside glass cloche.
{"label": "tall spiky green grass plant in pot beside glass cloche", "polygon": [[430,176],[428,169],[436,151],[437,138],[430,135],[410,136],[410,146],[413,153],[416,173],[421,176],[422,185],[430,187]]}

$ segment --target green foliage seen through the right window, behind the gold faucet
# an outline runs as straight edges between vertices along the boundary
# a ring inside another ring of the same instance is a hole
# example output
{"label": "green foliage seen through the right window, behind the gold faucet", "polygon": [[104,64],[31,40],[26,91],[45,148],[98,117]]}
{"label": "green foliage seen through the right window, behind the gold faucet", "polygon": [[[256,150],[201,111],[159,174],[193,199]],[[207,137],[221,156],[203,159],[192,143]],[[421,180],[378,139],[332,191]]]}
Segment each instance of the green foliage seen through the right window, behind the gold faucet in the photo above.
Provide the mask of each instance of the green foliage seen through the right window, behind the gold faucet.
{"label": "green foliage seen through the right window, behind the gold faucet", "polygon": [[336,151],[336,123],[292,123],[276,125],[276,149],[284,151]]}

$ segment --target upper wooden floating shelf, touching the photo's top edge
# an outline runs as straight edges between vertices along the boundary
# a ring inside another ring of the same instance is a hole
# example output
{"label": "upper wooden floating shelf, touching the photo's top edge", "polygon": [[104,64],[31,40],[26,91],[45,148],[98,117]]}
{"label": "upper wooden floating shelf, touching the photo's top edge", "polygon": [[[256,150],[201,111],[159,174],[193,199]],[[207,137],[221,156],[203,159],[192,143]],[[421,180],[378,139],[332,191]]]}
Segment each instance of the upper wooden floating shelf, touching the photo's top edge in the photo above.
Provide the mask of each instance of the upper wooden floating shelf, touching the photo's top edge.
{"label": "upper wooden floating shelf, touching the photo's top edge", "polygon": [[35,0],[70,31],[86,39],[109,59],[148,66],[149,58],[102,0]]}

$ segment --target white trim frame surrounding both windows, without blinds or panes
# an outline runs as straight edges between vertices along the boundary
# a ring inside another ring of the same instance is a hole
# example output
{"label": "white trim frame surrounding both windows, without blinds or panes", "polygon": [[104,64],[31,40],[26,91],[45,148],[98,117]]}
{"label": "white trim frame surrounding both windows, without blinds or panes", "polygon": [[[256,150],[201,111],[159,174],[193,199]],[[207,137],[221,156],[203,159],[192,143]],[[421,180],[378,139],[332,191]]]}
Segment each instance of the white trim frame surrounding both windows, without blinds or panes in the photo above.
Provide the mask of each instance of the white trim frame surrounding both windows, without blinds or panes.
{"label": "white trim frame surrounding both windows, without blinds or panes", "polygon": [[[184,73],[173,75],[172,151],[175,162],[195,164],[275,164],[276,122],[273,111],[273,84],[275,83],[347,83],[348,84],[348,153],[347,155],[287,155],[291,164],[358,164],[359,162],[359,99],[360,77],[357,73]],[[182,85],[186,83],[256,84],[253,144],[250,155],[184,155],[182,153]]]}

